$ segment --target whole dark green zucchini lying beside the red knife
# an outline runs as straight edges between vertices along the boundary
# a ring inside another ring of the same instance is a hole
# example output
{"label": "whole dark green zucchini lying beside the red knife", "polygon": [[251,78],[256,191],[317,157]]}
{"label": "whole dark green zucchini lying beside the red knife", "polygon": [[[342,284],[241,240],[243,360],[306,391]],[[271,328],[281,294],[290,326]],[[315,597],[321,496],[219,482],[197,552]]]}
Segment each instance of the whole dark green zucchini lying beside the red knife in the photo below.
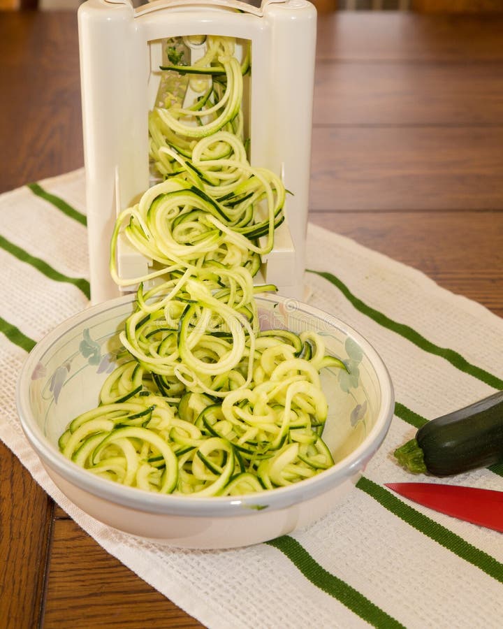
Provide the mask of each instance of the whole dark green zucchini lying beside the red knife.
{"label": "whole dark green zucchini lying beside the red knife", "polygon": [[409,472],[434,476],[503,462],[503,391],[429,421],[395,457]]}

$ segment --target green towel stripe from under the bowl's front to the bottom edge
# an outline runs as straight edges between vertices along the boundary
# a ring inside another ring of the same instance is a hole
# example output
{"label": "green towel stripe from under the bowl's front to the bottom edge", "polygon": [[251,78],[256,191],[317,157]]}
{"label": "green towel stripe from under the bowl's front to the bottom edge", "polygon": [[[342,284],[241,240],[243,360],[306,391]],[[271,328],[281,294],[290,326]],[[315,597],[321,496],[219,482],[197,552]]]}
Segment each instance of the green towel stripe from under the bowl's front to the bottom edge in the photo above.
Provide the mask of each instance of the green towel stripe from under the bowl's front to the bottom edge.
{"label": "green towel stripe from under the bowl's front to the bottom edge", "polygon": [[321,567],[293,537],[283,535],[276,540],[265,543],[282,551],[314,586],[342,602],[348,609],[351,609],[351,612],[360,616],[370,625],[386,629],[403,627],[355,588]]}

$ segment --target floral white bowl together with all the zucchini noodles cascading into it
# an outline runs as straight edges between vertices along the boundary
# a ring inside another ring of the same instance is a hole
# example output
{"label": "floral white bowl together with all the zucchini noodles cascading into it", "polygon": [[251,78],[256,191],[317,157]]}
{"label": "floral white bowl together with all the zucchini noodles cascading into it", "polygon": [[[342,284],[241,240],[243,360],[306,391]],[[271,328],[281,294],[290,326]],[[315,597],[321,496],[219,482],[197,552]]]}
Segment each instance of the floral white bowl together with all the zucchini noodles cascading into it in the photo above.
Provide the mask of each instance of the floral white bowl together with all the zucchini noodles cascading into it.
{"label": "floral white bowl together with all the zucchini noodles cascading into it", "polygon": [[[258,284],[287,192],[247,158],[237,103],[249,55],[238,63],[231,38],[208,41],[197,66],[176,57],[166,70],[195,75],[200,96],[165,95],[152,110],[156,182],[112,233],[112,279],[136,290],[54,329],[17,389],[24,432],[70,500],[191,548],[314,521],[393,414],[388,372],[364,338]],[[147,274],[120,275],[121,239],[151,261]]]}

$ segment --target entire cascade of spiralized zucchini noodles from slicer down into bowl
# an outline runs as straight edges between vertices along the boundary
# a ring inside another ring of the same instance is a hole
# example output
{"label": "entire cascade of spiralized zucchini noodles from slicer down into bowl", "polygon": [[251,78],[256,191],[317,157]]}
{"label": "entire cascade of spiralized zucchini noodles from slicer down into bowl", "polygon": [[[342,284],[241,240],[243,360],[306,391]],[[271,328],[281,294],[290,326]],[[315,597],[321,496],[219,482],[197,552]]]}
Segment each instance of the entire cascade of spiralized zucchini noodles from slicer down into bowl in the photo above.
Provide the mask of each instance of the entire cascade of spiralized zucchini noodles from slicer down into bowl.
{"label": "entire cascade of spiralized zucchini noodles from slicer down into bowl", "polygon": [[[249,52],[240,63],[234,45],[208,36],[194,66],[162,68],[200,96],[187,106],[168,94],[150,113],[150,157],[163,180],[117,217],[110,247],[115,282],[139,284],[136,310],[99,405],[59,439],[78,465],[147,491],[236,496],[333,465],[319,371],[344,364],[313,331],[259,326],[254,295],[275,287],[254,287],[254,275],[284,219],[285,189],[248,162]],[[119,237],[152,260],[147,275],[119,276]]]}

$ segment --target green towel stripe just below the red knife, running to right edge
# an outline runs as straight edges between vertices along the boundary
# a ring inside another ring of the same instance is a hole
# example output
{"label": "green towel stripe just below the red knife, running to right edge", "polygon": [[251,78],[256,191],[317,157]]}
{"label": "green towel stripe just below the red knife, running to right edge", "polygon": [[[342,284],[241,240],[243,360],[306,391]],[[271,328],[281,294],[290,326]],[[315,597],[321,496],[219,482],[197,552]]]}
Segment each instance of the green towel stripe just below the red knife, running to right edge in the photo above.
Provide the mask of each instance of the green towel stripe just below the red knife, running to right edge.
{"label": "green towel stripe just below the red knife, running to right edge", "polygon": [[503,583],[503,564],[494,557],[472,546],[472,544],[463,540],[462,537],[453,533],[449,528],[445,528],[435,522],[435,520],[410,507],[400,498],[397,498],[390,491],[370,479],[361,477],[356,486],[420,533],[427,535],[458,557],[480,568],[493,579]]}

